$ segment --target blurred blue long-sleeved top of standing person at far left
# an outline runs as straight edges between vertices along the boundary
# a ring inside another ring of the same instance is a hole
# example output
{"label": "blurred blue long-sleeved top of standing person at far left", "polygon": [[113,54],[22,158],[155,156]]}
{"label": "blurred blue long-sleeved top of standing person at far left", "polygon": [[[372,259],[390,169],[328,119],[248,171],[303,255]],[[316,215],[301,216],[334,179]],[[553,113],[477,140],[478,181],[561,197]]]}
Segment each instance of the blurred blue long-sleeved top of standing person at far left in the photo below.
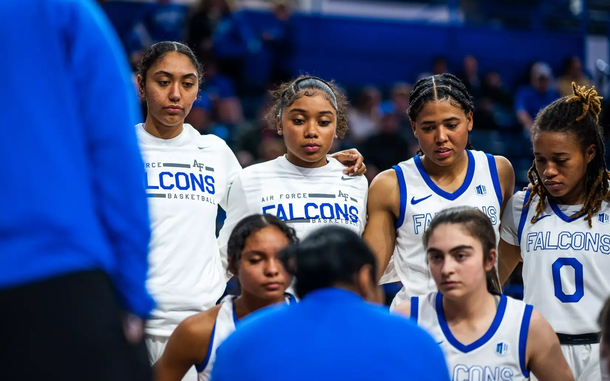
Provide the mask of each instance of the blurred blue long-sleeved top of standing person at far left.
{"label": "blurred blue long-sleeved top of standing person at far left", "polygon": [[102,269],[148,316],[142,116],[112,26],[92,0],[0,1],[0,46],[0,290]]}

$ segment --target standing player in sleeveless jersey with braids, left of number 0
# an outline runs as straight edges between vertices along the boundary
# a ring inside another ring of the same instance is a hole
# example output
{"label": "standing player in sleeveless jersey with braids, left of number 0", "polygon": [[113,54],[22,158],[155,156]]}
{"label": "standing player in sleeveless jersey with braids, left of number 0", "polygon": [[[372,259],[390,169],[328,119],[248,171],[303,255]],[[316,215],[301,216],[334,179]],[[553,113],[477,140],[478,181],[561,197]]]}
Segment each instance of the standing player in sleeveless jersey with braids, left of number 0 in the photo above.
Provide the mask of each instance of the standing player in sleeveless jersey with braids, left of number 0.
{"label": "standing player in sleeveless jersey with braids, left of number 0", "polygon": [[421,240],[434,215],[449,206],[476,206],[498,235],[500,215],[515,182],[504,157],[468,149],[473,104],[459,79],[451,74],[421,79],[410,99],[407,112],[420,154],[373,180],[364,232],[379,275],[388,269],[380,283],[397,280],[390,272],[395,267],[403,284],[392,308],[409,296],[436,290]]}

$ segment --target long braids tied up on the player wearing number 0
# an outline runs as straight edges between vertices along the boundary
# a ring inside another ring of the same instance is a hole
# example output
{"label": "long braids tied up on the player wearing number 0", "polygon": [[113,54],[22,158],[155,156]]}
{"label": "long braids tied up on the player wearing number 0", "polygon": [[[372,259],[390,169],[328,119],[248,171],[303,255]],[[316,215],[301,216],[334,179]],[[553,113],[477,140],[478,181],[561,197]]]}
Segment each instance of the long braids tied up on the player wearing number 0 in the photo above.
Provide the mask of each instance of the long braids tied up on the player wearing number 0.
{"label": "long braids tied up on the player wearing number 0", "polygon": [[[551,131],[572,134],[578,139],[583,152],[590,145],[595,145],[595,157],[587,165],[585,173],[585,203],[573,216],[578,218],[586,214],[585,220],[591,227],[593,215],[601,209],[602,202],[610,198],[610,173],[606,169],[604,137],[598,124],[602,97],[597,95],[595,86],[586,89],[585,86],[576,86],[572,82],[572,90],[572,96],[560,98],[538,113],[532,127],[532,139],[540,131]],[[527,177],[532,184],[532,197],[525,207],[531,204],[534,195],[539,197],[536,215],[532,220],[534,223],[544,212],[550,194],[540,181],[541,176],[536,169],[535,160],[527,172]]]}

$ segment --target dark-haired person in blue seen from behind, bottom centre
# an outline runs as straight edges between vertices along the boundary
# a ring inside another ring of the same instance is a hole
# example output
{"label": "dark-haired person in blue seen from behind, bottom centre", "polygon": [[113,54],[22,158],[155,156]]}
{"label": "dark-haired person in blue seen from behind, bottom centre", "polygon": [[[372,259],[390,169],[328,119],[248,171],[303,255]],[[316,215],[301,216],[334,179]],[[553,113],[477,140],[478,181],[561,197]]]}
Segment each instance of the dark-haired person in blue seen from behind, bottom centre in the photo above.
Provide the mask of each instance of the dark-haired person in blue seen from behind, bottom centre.
{"label": "dark-haired person in blue seen from behind, bottom centre", "polygon": [[329,226],[280,254],[301,303],[259,311],[216,351],[214,381],[448,381],[443,353],[380,306],[375,257],[348,229]]}

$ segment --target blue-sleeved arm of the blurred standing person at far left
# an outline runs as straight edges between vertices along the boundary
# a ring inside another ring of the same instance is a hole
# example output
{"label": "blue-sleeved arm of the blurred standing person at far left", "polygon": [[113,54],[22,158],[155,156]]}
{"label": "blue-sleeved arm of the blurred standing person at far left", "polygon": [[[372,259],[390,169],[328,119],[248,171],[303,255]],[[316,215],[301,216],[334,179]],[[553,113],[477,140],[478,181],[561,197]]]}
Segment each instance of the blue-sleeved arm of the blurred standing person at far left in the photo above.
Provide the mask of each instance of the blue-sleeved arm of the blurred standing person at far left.
{"label": "blue-sleeved arm of the blurred standing person at far left", "polygon": [[[80,112],[89,154],[94,203],[115,270],[110,273],[119,302],[146,318],[154,302],[146,291],[150,227],[142,157],[134,125],[141,120],[127,58],[97,4],[71,2],[66,16],[66,64],[73,88],[82,92],[73,105]],[[93,64],[92,64],[93,63]],[[94,101],[92,101],[94,100]]]}

